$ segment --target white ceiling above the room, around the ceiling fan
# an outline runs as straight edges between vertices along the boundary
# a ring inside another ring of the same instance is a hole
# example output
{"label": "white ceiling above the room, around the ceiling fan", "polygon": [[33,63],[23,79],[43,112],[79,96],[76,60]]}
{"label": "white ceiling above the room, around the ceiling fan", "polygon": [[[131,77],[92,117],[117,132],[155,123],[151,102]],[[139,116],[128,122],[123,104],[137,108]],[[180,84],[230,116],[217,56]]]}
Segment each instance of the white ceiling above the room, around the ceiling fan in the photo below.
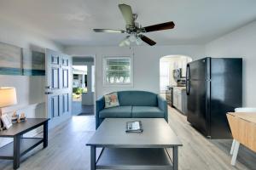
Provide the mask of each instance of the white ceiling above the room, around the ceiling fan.
{"label": "white ceiling above the room, around the ceiling fan", "polygon": [[209,42],[256,20],[255,0],[2,0],[0,23],[15,23],[65,46],[118,45],[124,34],[92,29],[124,29],[119,3],[130,4],[143,26],[175,22],[174,30],[147,33],[158,45]]}

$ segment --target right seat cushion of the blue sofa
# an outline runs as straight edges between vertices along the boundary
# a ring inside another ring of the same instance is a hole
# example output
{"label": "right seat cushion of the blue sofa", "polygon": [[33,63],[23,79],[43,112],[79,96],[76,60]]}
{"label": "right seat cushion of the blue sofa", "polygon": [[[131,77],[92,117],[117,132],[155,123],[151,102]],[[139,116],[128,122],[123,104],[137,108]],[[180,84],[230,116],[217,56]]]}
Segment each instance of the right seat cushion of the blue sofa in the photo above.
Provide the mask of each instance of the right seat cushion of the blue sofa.
{"label": "right seat cushion of the blue sofa", "polygon": [[164,111],[161,111],[158,107],[133,106],[132,117],[163,118],[165,114]]}

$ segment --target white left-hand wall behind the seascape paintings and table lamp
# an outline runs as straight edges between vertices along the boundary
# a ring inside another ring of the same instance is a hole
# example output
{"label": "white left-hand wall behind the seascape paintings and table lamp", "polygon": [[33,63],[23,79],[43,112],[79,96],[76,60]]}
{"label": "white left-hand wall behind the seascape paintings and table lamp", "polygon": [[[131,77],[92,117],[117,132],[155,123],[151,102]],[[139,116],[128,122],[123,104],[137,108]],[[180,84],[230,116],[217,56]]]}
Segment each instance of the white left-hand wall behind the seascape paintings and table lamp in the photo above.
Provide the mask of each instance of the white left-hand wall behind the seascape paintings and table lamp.
{"label": "white left-hand wall behind the seascape paintings and table lamp", "polygon": [[[0,20],[0,42],[6,42],[20,48],[37,49],[51,48],[61,51],[63,48],[49,39],[27,31],[20,26]],[[27,117],[44,117],[44,77],[3,76],[0,75],[0,87],[15,87],[18,105],[3,108],[3,113],[25,112]],[[0,139],[0,146],[8,140]]]}

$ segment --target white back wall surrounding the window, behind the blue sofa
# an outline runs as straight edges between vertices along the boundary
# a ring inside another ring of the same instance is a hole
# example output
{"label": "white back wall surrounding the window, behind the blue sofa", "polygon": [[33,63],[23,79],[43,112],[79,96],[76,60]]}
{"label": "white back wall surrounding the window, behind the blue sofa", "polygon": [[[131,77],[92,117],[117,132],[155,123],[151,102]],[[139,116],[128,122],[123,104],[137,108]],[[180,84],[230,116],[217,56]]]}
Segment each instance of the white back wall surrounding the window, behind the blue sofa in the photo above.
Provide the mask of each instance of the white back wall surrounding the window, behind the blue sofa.
{"label": "white back wall surrounding the window, behind the blue sofa", "polygon": [[[96,98],[119,90],[147,90],[160,92],[160,58],[170,54],[181,54],[197,59],[205,53],[204,46],[139,46],[119,47],[67,47],[66,54],[73,56],[96,56]],[[133,57],[133,87],[104,87],[102,84],[102,57],[130,55]]]}

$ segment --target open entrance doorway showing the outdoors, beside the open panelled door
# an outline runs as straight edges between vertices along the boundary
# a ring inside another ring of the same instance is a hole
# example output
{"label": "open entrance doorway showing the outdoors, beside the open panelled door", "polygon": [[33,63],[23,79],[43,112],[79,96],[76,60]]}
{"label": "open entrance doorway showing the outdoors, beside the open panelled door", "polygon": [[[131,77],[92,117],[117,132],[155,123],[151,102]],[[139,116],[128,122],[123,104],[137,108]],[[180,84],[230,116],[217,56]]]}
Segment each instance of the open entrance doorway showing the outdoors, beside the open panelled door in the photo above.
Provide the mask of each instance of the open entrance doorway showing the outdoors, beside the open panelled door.
{"label": "open entrance doorway showing the outdoors, beside the open panelled door", "polygon": [[73,116],[95,114],[95,61],[93,57],[73,57]]}

